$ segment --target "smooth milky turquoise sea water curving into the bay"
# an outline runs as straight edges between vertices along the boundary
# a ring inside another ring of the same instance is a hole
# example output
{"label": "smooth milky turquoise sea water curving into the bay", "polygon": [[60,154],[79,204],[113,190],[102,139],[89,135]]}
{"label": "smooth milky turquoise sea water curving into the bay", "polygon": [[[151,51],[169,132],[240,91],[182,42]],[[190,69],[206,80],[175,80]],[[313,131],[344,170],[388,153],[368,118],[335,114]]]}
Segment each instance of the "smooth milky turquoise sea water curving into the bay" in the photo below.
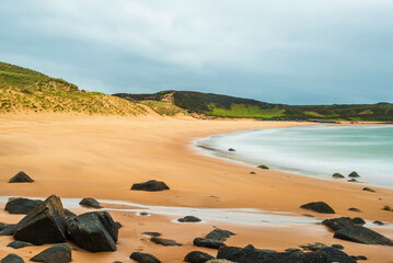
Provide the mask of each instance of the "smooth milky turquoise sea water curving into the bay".
{"label": "smooth milky turquoise sea water curving into the bay", "polygon": [[322,178],[357,171],[358,181],[393,187],[393,126],[255,129],[210,136],[197,145],[212,149],[210,155],[251,165]]}

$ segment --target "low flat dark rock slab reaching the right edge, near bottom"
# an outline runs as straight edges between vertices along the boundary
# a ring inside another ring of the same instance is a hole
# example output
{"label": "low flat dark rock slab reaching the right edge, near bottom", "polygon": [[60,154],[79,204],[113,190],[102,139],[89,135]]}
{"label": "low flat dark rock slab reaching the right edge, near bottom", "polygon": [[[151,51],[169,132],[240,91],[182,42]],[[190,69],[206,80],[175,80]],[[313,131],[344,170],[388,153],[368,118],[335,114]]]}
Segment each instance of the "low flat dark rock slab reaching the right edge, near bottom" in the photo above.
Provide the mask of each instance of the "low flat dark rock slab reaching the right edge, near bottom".
{"label": "low flat dark rock slab reaching the right edge, near bottom", "polygon": [[335,231],[334,238],[365,244],[393,245],[389,238],[361,226],[354,225],[349,217],[326,219],[323,225]]}

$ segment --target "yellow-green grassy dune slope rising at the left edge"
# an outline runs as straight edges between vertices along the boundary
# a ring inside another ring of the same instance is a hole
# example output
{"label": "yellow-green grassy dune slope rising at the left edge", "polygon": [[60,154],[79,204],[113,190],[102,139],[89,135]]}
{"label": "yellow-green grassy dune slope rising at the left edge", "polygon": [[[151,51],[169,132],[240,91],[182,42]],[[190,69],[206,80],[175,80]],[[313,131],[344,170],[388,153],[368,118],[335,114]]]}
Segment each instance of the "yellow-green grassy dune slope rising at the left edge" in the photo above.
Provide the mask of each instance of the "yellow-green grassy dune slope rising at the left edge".
{"label": "yellow-green grassy dune slope rising at the left edge", "polygon": [[79,90],[62,79],[0,62],[0,113],[8,112],[138,115],[146,110],[120,98]]}

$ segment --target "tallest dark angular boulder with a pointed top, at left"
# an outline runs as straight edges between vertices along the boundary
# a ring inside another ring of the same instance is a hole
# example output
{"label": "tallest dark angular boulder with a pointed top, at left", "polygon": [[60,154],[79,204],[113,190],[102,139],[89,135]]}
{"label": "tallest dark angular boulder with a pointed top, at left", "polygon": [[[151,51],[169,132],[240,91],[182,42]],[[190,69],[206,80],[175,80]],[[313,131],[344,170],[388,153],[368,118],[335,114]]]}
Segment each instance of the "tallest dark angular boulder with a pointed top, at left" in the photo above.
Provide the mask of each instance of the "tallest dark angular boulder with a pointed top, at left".
{"label": "tallest dark angular boulder with a pointed top, at left", "polygon": [[18,222],[13,237],[36,245],[65,242],[66,225],[61,201],[51,195]]}

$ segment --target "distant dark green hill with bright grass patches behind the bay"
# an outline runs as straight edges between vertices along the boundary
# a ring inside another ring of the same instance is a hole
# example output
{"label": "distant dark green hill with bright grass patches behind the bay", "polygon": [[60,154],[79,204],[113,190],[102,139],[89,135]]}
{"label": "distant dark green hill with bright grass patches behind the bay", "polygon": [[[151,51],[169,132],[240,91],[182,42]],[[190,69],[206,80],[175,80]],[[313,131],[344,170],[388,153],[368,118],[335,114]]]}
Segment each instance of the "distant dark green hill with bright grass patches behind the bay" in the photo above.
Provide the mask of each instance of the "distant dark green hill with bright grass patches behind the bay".
{"label": "distant dark green hill with bright grass patches behind the bay", "polygon": [[218,117],[261,119],[393,121],[393,104],[286,105],[193,91],[162,91],[154,94],[115,94],[129,101],[167,101],[187,110]]}

